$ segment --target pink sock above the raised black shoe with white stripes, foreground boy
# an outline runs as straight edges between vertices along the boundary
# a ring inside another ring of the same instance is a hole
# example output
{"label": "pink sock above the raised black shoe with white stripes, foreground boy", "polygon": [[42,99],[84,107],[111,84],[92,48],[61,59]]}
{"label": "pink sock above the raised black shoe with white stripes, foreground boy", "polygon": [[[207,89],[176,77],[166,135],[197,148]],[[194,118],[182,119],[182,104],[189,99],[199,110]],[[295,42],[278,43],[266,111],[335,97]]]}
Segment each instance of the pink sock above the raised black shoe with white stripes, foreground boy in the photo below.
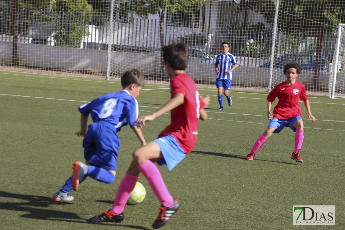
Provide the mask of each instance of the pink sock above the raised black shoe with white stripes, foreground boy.
{"label": "pink sock above the raised black shoe with white stripes, foreground boy", "polygon": [[160,203],[165,207],[173,206],[175,202],[174,198],[170,195],[165,186],[162,175],[155,164],[152,163],[152,161],[147,160],[140,164],[138,169],[150,183],[151,189],[156,194],[158,200],[160,200]]}

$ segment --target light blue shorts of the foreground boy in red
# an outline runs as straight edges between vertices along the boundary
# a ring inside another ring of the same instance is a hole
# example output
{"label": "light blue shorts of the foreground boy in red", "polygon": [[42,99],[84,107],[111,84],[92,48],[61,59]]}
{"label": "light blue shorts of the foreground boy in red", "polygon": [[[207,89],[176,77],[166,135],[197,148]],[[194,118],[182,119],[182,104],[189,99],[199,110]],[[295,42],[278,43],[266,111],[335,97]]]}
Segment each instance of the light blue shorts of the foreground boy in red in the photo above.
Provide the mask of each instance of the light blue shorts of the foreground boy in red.
{"label": "light blue shorts of the foreground boy in red", "polygon": [[163,158],[160,158],[157,163],[159,165],[166,164],[169,171],[171,171],[181,160],[183,160],[187,154],[180,147],[180,144],[172,135],[158,137],[154,140],[163,154]]}

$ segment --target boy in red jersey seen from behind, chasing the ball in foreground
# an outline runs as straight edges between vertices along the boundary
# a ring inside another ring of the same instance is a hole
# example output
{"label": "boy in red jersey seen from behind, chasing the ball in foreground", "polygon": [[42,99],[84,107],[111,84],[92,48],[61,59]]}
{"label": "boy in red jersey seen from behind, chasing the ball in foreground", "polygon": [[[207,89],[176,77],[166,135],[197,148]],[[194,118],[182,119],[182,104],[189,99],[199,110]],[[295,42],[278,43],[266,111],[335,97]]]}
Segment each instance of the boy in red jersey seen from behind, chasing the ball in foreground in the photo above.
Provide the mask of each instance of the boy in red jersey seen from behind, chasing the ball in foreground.
{"label": "boy in red jersey seen from behind, chasing the ball in foreground", "polygon": [[[109,211],[90,218],[89,222],[122,222],[124,207],[134,189],[141,172],[149,181],[152,190],[161,202],[158,218],[153,228],[166,225],[171,216],[180,208],[180,204],[169,193],[162,176],[155,166],[166,164],[172,170],[194,148],[198,135],[198,120],[206,120],[203,109],[209,104],[209,97],[201,98],[193,79],[186,73],[188,50],[183,43],[170,44],[162,48],[166,71],[171,78],[171,99],[156,112],[139,117],[135,122],[145,126],[145,122],[171,110],[171,124],[154,141],[142,146],[133,153],[125,177],[116,192],[114,205]],[[141,126],[140,126],[141,127]]]}

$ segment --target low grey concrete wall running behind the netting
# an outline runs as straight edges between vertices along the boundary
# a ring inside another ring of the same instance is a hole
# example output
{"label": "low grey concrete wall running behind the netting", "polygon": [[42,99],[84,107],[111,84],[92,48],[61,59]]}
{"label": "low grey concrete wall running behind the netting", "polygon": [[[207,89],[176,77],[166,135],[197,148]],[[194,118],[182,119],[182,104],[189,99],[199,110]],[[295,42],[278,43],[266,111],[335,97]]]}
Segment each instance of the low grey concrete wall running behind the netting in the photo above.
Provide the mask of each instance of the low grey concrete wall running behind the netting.
{"label": "low grey concrete wall running behind the netting", "polygon": [[[0,64],[10,65],[13,43],[0,41]],[[77,71],[106,72],[108,54],[105,50],[78,49],[39,44],[18,43],[18,61],[20,65],[48,69],[67,69]],[[122,74],[128,69],[136,68],[144,75],[157,76],[160,55],[150,53],[112,52],[111,73]],[[200,63],[199,58],[190,58],[186,72],[196,82],[214,83],[216,74],[213,64]],[[303,71],[298,81],[311,88],[314,72]],[[285,81],[282,69],[274,69],[274,75],[279,76],[274,84]],[[328,90],[330,72],[320,73],[320,87]],[[344,74],[339,73],[336,87],[343,89]],[[239,66],[232,80],[233,85],[247,87],[267,87],[269,82],[269,69],[258,67]],[[274,85],[275,86],[275,85]]]}

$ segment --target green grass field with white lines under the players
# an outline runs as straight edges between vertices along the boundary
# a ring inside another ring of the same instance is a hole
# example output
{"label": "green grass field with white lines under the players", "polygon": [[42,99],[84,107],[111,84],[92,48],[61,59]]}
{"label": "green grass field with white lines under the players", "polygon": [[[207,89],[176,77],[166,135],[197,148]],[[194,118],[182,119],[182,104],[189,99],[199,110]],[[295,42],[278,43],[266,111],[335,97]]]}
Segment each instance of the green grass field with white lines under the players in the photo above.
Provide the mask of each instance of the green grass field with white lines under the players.
{"label": "green grass field with white lines under the players", "polygon": [[[50,199],[71,176],[72,163],[84,160],[82,138],[74,135],[80,129],[78,107],[120,89],[118,81],[0,72],[1,229],[152,229],[160,203],[142,175],[146,198],[125,207],[122,224],[86,221],[112,206],[131,153],[140,146],[129,127],[119,132],[114,183],[88,178],[70,192],[74,201]],[[247,161],[268,124],[267,93],[231,91],[233,106],[216,111],[216,89],[199,91],[210,95],[211,104],[193,152],[171,172],[159,167],[181,203],[163,229],[345,229],[345,99],[309,96],[315,123],[301,102],[303,163],[290,159],[294,133],[288,128]],[[137,98],[139,115],[169,98],[168,86],[146,84]],[[147,142],[169,123],[169,114],[147,123],[142,129]],[[335,205],[335,226],[294,226],[294,205]]]}

